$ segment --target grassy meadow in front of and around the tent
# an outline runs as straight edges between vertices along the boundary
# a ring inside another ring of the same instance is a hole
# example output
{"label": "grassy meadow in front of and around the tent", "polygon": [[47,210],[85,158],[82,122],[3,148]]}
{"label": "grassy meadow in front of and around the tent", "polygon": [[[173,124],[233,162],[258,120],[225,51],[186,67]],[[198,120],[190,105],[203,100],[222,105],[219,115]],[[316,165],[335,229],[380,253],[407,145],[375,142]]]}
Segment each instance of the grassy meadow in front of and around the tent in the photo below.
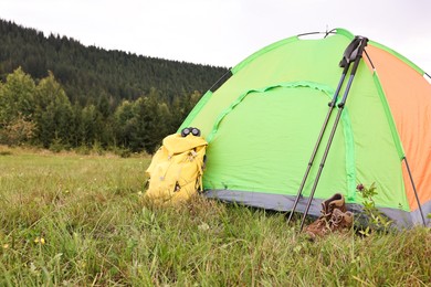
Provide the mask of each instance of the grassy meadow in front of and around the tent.
{"label": "grassy meadow in front of and around the tent", "polygon": [[280,213],[143,205],[149,161],[0,147],[0,286],[431,285],[430,228],[312,243]]}

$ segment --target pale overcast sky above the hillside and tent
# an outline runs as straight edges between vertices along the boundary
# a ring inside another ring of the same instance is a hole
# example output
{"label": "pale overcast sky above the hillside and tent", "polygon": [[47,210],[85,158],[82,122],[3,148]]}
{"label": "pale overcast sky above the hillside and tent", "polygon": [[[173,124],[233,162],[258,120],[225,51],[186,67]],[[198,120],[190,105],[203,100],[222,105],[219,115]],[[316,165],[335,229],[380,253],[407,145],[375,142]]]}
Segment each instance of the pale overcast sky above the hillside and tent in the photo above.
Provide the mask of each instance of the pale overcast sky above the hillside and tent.
{"label": "pale overcast sky above the hillside and tent", "polygon": [[227,67],[275,41],[345,28],[431,73],[431,0],[0,0],[0,18],[84,45]]}

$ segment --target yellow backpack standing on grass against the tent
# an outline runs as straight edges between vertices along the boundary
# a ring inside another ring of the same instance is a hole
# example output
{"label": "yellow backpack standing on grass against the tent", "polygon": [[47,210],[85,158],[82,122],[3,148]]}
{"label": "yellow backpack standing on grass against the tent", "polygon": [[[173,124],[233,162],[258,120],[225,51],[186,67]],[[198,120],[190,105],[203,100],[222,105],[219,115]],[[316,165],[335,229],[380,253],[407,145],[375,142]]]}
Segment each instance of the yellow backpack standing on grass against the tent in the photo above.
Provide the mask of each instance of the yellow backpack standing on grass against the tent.
{"label": "yellow backpack standing on grass against the tent", "polygon": [[146,171],[149,187],[144,198],[156,204],[175,204],[201,190],[207,145],[192,134],[167,136]]}

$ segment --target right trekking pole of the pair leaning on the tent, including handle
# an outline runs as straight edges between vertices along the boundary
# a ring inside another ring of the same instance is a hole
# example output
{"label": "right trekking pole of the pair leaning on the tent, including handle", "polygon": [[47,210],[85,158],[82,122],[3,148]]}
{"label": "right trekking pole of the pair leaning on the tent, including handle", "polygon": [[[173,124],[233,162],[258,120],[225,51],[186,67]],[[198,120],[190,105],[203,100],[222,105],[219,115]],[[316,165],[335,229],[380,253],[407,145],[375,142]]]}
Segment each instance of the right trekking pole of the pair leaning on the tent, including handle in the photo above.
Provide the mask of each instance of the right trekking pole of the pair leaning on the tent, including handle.
{"label": "right trekking pole of the pair leaning on the tent, including handle", "polygon": [[[333,129],[330,130],[329,139],[328,139],[328,142],[326,145],[325,152],[323,155],[323,158],[322,158],[322,161],[320,161],[320,164],[319,164],[319,169],[317,171],[316,179],[314,180],[314,184],[313,184],[312,191],[309,193],[308,202],[307,202],[307,205],[305,208],[303,219],[301,221],[299,232],[302,232],[302,230],[304,227],[305,217],[308,214],[309,206],[312,204],[313,196],[314,196],[314,193],[315,193],[317,184],[318,184],[318,180],[320,179],[320,174],[322,174],[323,168],[325,166],[326,158],[327,158],[327,156],[329,153],[329,149],[330,149],[330,145],[333,144],[335,131],[337,130],[337,126],[338,126],[339,119],[341,117],[343,109],[344,109],[344,107],[346,105],[347,95],[348,95],[348,93],[350,91],[351,83],[353,83],[353,81],[355,78],[355,74],[356,74],[356,71],[358,68],[360,59],[362,57],[364,49],[365,49],[365,46],[367,45],[367,42],[368,42],[367,38],[356,36],[355,40],[357,40],[356,42],[358,43],[358,46],[353,51],[353,53],[350,55],[350,60],[354,60],[355,63],[354,63],[354,66],[351,68],[349,81],[347,83],[346,91],[344,92],[341,102],[337,105],[338,106],[337,117],[335,118]],[[343,60],[345,60],[345,57]],[[343,60],[341,60],[341,63],[343,63]]]}

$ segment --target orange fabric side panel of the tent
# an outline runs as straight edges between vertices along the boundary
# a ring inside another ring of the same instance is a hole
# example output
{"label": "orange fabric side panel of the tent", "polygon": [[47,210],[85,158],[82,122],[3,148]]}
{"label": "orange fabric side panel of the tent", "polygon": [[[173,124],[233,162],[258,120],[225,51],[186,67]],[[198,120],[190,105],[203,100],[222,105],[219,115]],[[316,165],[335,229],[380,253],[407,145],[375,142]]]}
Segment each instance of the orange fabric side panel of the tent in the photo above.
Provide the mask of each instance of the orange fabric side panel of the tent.
{"label": "orange fabric side panel of the tent", "polygon": [[[367,52],[372,63],[378,66],[378,78],[383,87],[385,96],[392,113],[400,141],[406,149],[414,182],[418,189],[431,187],[431,94],[430,84],[418,76],[416,66],[407,65],[389,51],[376,46]],[[393,73],[398,71],[399,73]],[[427,132],[428,131],[428,132]],[[409,174],[403,168],[403,178],[408,182]],[[413,195],[411,185],[407,194]],[[431,192],[421,193],[421,201],[430,201]],[[414,196],[409,198],[409,205],[418,208]]]}

